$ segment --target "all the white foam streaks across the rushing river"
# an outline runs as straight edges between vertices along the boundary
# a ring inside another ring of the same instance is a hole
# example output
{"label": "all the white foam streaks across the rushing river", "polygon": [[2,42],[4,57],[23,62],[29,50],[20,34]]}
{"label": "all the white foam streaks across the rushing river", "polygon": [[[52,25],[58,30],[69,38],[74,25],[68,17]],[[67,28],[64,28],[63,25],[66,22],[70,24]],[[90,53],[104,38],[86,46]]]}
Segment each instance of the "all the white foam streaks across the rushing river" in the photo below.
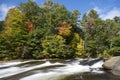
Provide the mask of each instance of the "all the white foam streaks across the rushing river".
{"label": "all the white foam streaks across the rushing river", "polygon": [[[63,63],[58,63],[58,62],[50,63],[49,61],[47,61],[43,64],[39,64],[36,66],[31,66],[31,67],[9,67],[5,69],[0,69],[0,78],[20,74],[20,73],[33,70],[36,68],[42,68],[42,67],[48,67],[48,66],[54,66],[54,65],[66,65],[66,66],[52,68],[52,69],[50,68],[48,72],[39,71],[36,74],[23,77],[20,80],[59,80],[59,79],[62,79],[66,76],[70,76],[73,74],[90,72],[91,68],[93,69],[92,72],[102,73],[102,71],[97,70],[97,68],[102,68],[102,64],[103,64],[102,60],[99,62],[96,62],[92,66],[80,65],[81,60],[83,59],[77,59],[68,64],[63,64]],[[34,60],[31,60],[31,61],[34,61]],[[27,63],[31,61],[6,63],[5,66],[17,65],[17,64]]]}

